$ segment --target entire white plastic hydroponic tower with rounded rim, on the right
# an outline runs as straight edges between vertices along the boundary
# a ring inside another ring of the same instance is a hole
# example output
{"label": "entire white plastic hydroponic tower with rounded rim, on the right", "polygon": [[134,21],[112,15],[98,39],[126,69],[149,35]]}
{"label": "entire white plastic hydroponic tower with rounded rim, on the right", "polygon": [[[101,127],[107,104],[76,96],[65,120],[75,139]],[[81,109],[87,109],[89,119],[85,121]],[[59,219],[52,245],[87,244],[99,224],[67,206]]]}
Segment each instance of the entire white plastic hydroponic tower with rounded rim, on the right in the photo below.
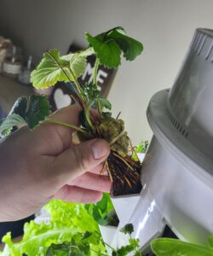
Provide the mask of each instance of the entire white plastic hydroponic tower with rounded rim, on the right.
{"label": "entire white plastic hydroponic tower with rounded rim, on the right", "polygon": [[140,201],[129,223],[146,247],[169,224],[185,241],[213,232],[213,31],[198,29],[171,90],[150,100],[153,140],[142,166]]}

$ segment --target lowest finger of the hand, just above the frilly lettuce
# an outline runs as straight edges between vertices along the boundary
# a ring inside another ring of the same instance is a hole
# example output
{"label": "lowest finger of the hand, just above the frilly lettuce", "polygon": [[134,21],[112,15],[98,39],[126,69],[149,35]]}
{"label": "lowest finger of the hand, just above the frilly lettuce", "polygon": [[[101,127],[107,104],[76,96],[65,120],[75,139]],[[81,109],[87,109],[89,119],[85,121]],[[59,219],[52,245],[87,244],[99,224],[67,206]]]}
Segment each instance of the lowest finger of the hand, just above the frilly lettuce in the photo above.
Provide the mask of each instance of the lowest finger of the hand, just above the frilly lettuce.
{"label": "lowest finger of the hand, just above the frilly lettuce", "polygon": [[100,191],[81,189],[69,185],[65,185],[55,194],[55,199],[79,203],[93,203],[100,201],[101,198],[102,193]]}

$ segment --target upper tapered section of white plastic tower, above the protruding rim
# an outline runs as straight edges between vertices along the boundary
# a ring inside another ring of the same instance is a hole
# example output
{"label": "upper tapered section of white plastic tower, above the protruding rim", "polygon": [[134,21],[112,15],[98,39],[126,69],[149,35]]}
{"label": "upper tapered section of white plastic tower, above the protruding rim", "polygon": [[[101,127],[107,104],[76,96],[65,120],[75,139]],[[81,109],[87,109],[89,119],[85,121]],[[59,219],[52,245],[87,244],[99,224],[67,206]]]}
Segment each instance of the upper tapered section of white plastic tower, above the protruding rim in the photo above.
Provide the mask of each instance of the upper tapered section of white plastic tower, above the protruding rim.
{"label": "upper tapered section of white plastic tower, above the protruding rim", "polygon": [[170,90],[167,113],[177,130],[213,159],[212,30],[196,30],[181,73]]}

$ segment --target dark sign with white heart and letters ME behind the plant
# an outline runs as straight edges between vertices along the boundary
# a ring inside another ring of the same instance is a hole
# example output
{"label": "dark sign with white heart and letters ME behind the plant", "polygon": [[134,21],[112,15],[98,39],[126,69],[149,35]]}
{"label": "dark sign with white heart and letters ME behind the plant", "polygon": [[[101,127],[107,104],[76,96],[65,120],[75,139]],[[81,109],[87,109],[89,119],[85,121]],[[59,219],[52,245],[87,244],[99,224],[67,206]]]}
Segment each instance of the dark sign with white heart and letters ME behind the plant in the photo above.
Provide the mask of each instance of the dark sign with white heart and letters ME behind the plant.
{"label": "dark sign with white heart and letters ME behind the plant", "polygon": [[[71,45],[68,52],[75,52],[80,48],[76,45]],[[95,67],[95,55],[90,55],[87,58],[87,67],[83,75],[78,79],[79,84],[85,84],[86,82],[90,83],[93,80],[93,71]],[[101,90],[101,96],[107,98],[109,90],[112,86],[112,81],[116,74],[116,70],[113,68],[107,69],[104,66],[100,66],[97,73],[97,82]],[[55,84],[54,90],[50,96],[50,103],[53,107],[53,111],[60,109],[71,104],[74,104],[72,97],[72,90],[70,86],[67,86],[68,83],[60,82]]]}

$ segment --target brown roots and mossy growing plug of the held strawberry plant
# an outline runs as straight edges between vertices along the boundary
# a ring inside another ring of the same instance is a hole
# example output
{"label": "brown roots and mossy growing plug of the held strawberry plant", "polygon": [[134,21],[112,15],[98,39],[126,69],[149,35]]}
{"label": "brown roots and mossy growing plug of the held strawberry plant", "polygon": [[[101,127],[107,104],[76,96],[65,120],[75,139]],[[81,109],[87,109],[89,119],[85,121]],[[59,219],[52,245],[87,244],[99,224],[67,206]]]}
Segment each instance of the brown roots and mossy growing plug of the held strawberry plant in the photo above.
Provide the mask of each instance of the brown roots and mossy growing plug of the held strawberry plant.
{"label": "brown roots and mossy growing plug of the held strawberry plant", "polygon": [[[82,122],[83,123],[83,122]],[[83,125],[85,126],[85,125]],[[86,129],[86,134],[79,133],[80,141],[91,138],[103,138],[109,144],[111,153],[105,163],[108,176],[112,180],[112,195],[131,195],[141,192],[141,162],[133,160],[133,148],[127,132],[124,131],[124,121],[113,119],[111,113],[95,124],[95,130]]]}

